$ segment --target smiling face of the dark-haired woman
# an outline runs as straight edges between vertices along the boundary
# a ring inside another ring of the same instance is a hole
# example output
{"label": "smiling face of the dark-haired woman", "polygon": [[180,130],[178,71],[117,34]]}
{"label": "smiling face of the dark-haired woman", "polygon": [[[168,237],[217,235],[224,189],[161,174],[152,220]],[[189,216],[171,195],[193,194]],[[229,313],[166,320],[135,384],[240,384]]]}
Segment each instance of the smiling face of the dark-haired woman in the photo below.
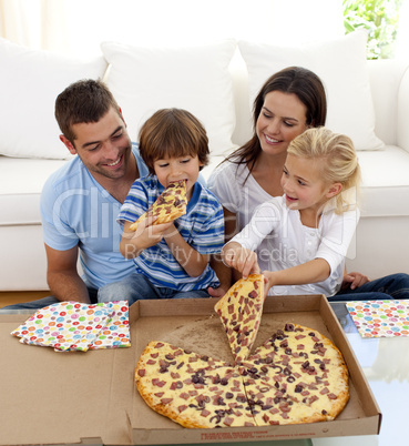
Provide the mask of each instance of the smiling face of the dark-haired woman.
{"label": "smiling face of the dark-haired woman", "polygon": [[256,124],[263,152],[286,153],[288,144],[307,128],[306,112],[306,107],[294,93],[267,93]]}

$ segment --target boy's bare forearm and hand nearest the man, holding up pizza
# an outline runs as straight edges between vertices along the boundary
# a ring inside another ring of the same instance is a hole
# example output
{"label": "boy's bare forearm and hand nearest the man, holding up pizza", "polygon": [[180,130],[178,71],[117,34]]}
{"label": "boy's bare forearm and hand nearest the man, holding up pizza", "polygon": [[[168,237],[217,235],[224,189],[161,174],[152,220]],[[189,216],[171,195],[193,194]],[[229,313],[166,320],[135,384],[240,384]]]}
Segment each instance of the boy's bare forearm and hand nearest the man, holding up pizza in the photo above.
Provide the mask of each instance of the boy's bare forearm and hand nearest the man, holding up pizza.
{"label": "boy's bare forearm and hand nearest the man, holding up pizza", "polygon": [[121,254],[125,259],[137,257],[143,250],[157,244],[172,225],[172,223],[153,225],[153,222],[154,219],[151,215],[137,225],[136,231],[130,231],[132,222],[125,222],[120,243]]}

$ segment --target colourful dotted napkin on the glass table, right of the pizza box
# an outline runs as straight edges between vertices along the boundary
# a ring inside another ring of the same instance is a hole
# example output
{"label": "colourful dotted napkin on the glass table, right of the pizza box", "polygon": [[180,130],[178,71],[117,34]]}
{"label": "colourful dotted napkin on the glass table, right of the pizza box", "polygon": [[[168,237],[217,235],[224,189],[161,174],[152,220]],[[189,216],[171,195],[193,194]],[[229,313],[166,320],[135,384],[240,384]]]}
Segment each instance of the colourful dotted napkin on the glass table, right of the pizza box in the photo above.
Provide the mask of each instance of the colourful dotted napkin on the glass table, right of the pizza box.
{"label": "colourful dotted napkin on the glass table, right of the pizza box", "polygon": [[362,337],[409,336],[409,301],[357,301],[347,308]]}

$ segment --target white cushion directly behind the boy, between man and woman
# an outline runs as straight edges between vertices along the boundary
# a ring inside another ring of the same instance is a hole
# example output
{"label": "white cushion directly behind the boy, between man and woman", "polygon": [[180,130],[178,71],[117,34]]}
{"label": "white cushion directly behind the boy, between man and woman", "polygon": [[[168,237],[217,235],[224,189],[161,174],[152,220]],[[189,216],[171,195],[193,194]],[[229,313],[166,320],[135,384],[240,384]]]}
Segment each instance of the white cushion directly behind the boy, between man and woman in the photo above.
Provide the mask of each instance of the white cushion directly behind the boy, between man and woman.
{"label": "white cushion directly behind the boy, between man and woman", "polygon": [[105,81],[122,109],[132,140],[156,110],[186,109],[205,126],[213,154],[231,150],[235,126],[228,64],[234,40],[185,48],[136,48],[103,42],[111,64]]}

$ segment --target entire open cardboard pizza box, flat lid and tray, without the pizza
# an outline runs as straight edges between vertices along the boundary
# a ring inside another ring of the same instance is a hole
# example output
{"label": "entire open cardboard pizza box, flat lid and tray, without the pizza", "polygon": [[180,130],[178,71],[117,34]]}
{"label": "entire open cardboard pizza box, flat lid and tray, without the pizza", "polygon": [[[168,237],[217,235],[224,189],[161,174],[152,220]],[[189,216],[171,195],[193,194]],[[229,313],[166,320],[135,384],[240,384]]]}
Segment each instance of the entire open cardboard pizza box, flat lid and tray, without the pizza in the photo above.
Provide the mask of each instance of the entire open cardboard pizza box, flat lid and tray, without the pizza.
{"label": "entire open cardboard pizza box, flat lid and tray, without the pizza", "polygon": [[159,339],[231,361],[216,300],[141,301],[130,308],[131,347],[58,353],[19,343],[10,332],[28,314],[0,312],[0,445],[149,445],[247,443],[378,434],[381,414],[351,347],[324,296],[268,297],[256,345],[286,322],[315,328],[341,351],[350,401],[334,422],[252,428],[186,429],[140,397],[134,368]]}

